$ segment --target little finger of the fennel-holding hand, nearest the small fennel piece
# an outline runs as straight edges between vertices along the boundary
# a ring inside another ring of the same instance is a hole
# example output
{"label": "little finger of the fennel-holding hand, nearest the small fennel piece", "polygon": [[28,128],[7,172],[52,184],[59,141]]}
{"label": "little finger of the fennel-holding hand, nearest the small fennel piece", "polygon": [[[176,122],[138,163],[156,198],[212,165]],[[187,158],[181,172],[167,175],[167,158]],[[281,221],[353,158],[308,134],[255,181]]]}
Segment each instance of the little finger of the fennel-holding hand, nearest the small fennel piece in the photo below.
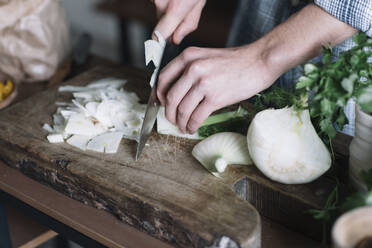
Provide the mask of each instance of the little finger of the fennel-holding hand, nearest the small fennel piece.
{"label": "little finger of the fennel-holding hand, nearest the small fennel piece", "polygon": [[214,110],[214,106],[205,98],[191,114],[186,126],[187,132],[195,133]]}

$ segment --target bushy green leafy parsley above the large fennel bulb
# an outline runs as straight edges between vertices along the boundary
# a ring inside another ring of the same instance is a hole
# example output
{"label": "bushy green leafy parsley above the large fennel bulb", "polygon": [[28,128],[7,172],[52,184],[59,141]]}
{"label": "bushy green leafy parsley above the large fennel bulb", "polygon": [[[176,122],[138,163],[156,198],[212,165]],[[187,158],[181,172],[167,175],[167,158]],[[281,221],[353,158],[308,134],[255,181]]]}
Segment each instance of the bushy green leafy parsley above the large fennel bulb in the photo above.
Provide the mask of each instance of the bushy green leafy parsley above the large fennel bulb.
{"label": "bushy green leafy parsley above the large fennel bulb", "polygon": [[310,115],[320,136],[330,139],[336,136],[336,128],[342,128],[347,118],[344,107],[355,97],[361,109],[372,112],[372,39],[364,33],[353,37],[356,46],[335,58],[332,47],[323,47],[322,61],[306,64],[304,75],[298,79],[297,90],[312,92]]}

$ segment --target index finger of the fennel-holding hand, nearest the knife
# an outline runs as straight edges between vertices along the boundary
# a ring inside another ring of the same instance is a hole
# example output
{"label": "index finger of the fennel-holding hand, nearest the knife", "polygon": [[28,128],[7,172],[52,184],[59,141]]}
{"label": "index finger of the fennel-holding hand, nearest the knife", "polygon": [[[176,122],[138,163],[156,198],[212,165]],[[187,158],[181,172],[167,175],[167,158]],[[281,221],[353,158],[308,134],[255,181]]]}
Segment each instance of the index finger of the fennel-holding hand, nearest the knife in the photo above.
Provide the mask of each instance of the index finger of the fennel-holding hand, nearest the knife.
{"label": "index finger of the fennel-holding hand, nearest the knife", "polygon": [[161,70],[158,81],[157,96],[163,106],[166,104],[166,94],[172,86],[172,83],[180,77],[188,64],[204,55],[204,49],[189,47]]}

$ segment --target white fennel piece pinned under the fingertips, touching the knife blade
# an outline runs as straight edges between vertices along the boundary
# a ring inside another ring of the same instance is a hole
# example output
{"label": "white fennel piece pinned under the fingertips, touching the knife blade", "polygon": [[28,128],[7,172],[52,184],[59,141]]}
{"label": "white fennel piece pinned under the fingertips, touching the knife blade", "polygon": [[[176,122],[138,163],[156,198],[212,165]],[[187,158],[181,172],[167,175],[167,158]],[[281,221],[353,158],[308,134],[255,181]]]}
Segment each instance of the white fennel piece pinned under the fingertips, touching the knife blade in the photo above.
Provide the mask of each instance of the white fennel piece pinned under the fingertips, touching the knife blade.
{"label": "white fennel piece pinned under the fingertips, touching the knife blade", "polygon": [[172,136],[186,138],[186,139],[201,139],[201,137],[199,137],[197,132],[194,134],[181,133],[178,127],[170,123],[165,117],[164,107],[159,108],[156,125],[157,125],[157,132],[160,134],[172,135]]}

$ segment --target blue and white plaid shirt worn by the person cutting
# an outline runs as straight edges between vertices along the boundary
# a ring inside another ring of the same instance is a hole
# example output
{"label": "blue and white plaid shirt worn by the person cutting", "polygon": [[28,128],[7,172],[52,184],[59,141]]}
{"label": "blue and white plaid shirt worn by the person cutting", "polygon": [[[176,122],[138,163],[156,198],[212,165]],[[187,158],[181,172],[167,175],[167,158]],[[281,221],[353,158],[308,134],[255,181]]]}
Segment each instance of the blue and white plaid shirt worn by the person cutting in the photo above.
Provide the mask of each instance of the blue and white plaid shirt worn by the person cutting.
{"label": "blue and white plaid shirt worn by the person cutting", "polygon": [[[241,46],[261,38],[304,7],[307,2],[298,0],[239,0],[227,46]],[[372,37],[372,0],[314,0],[314,3],[340,21]],[[338,54],[353,46],[354,42],[348,39],[336,46],[334,51]],[[317,62],[319,60],[320,57],[316,57],[310,61]],[[296,82],[300,72],[301,67],[297,66],[283,74],[275,84],[289,88]],[[354,135],[355,101],[348,102],[345,114],[349,124],[344,126],[342,132]]]}

